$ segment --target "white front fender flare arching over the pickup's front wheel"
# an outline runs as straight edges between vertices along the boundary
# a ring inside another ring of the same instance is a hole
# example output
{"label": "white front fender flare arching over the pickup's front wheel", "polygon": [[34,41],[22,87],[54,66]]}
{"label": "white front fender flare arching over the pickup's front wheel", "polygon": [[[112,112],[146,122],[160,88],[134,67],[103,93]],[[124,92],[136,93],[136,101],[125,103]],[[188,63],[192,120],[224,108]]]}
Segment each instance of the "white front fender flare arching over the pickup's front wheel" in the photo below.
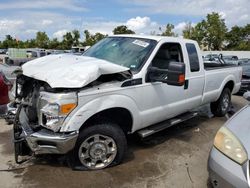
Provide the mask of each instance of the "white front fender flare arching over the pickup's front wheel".
{"label": "white front fender flare arching over the pickup's front wheel", "polygon": [[[81,97],[79,97],[79,101],[81,101]],[[130,112],[132,115],[133,127],[137,127],[141,123],[139,109],[136,103],[133,101],[133,99],[125,95],[113,94],[100,96],[87,102],[83,106],[79,106],[79,108],[73,111],[71,117],[67,118],[67,120],[64,122],[61,132],[79,130],[84,122],[86,122],[96,113],[117,107],[125,108]]]}

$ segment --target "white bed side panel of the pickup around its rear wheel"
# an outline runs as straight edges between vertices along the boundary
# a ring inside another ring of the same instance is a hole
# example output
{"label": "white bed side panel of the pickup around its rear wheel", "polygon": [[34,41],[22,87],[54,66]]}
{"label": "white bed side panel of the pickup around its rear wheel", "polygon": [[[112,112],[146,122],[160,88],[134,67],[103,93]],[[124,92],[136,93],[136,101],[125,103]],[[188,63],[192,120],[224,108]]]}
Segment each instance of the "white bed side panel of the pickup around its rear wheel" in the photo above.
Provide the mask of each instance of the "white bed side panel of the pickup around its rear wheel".
{"label": "white bed side panel of the pickup around its rear wheel", "polygon": [[233,81],[232,93],[238,92],[240,88],[240,67],[223,68],[205,71],[205,87],[202,104],[216,101],[229,81]]}

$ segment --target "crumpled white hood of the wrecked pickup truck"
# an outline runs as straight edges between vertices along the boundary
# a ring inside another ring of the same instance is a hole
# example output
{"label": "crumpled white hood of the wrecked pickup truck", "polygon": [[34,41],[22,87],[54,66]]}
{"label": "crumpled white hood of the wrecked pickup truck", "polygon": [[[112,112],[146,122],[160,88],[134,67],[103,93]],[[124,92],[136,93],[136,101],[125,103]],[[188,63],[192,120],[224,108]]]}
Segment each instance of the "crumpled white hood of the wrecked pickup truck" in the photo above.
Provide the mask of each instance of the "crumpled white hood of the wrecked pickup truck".
{"label": "crumpled white hood of the wrecked pickup truck", "polygon": [[87,56],[49,55],[25,63],[25,76],[47,82],[52,88],[81,88],[99,76],[129,71],[128,68]]}

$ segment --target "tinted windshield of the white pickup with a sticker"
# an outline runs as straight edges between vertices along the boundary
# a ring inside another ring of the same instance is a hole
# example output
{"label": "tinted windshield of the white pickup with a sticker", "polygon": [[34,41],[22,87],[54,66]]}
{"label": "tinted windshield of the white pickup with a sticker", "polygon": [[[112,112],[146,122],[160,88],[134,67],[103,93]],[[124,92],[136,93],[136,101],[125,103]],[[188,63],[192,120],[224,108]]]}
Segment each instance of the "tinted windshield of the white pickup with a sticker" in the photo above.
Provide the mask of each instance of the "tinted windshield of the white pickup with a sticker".
{"label": "tinted windshield of the white pickup with a sticker", "polygon": [[83,55],[95,57],[138,70],[149,57],[157,42],[150,39],[129,37],[107,37]]}

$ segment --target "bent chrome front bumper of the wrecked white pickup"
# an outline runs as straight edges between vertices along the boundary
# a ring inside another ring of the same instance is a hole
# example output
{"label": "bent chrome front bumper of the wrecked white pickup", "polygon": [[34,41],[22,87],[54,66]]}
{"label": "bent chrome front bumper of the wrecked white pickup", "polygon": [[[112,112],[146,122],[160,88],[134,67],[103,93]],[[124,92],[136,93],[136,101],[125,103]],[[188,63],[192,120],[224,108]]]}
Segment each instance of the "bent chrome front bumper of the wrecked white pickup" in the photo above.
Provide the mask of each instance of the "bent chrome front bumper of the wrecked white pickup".
{"label": "bent chrome front bumper of the wrecked white pickup", "polygon": [[75,147],[78,131],[54,133],[44,128],[33,131],[28,122],[26,113],[21,109],[19,114],[19,123],[22,128],[21,139],[26,140],[35,154],[66,154]]}

